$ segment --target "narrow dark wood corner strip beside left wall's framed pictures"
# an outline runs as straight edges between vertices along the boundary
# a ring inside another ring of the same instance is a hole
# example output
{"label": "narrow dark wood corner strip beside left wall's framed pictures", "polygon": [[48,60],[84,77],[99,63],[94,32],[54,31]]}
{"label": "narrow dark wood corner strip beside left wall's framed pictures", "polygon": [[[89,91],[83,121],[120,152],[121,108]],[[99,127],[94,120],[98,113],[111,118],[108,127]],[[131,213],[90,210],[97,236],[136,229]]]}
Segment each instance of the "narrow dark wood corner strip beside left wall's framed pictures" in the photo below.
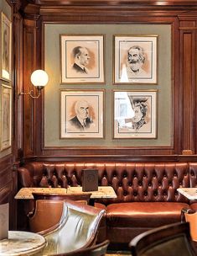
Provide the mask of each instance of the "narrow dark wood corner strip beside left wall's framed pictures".
{"label": "narrow dark wood corner strip beside left wall's framed pictures", "polygon": [[18,173],[23,151],[23,99],[18,93],[23,91],[23,17],[19,12],[21,3],[13,0],[13,196],[10,204],[10,229],[17,228]]}

